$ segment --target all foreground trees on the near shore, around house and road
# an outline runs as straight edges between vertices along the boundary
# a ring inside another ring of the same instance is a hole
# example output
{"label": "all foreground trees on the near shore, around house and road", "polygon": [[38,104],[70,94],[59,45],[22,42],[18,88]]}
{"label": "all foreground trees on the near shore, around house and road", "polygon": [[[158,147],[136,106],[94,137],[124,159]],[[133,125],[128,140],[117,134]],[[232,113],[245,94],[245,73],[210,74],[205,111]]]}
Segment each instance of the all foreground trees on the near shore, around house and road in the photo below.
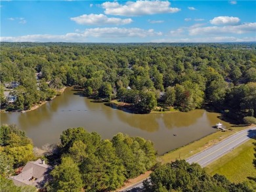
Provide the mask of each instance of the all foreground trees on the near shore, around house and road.
{"label": "all foreground trees on the near shore, around house and road", "polygon": [[68,128],[62,132],[60,144],[38,149],[16,126],[3,125],[0,144],[0,191],[5,192],[37,191],[29,185],[17,187],[8,177],[38,158],[53,166],[45,191],[114,191],[127,179],[150,169],[153,170],[150,182],[144,181],[148,192],[253,191],[248,183],[232,183],[219,174],[209,176],[196,163],[188,164],[184,160],[157,163],[152,142],[122,133],[112,140],[102,140],[96,132]]}

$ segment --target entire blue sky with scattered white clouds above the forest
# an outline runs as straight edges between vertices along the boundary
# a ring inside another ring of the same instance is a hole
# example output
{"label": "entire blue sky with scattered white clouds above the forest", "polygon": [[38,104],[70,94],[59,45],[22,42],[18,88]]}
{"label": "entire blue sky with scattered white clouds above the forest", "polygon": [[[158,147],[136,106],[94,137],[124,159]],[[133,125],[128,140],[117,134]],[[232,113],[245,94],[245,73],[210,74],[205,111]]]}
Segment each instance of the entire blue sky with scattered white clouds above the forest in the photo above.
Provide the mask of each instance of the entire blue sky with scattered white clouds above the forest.
{"label": "entire blue sky with scattered white clouds above the forest", "polygon": [[256,1],[0,1],[0,41],[256,41]]}

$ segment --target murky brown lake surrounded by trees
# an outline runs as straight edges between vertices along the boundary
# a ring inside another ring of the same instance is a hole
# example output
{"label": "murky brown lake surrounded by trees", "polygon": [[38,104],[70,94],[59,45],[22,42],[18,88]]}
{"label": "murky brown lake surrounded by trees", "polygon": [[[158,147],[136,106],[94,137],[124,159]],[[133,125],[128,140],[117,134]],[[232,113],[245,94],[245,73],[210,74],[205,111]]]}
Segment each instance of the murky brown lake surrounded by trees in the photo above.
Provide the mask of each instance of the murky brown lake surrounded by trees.
{"label": "murky brown lake surrounded by trees", "polygon": [[60,142],[62,131],[71,127],[82,126],[89,132],[98,132],[103,139],[123,132],[151,140],[161,155],[215,132],[212,126],[216,123],[231,126],[218,116],[219,113],[203,109],[188,113],[134,114],[87,99],[72,88],[66,88],[64,94],[33,111],[1,113],[1,125],[16,124],[38,147]]}

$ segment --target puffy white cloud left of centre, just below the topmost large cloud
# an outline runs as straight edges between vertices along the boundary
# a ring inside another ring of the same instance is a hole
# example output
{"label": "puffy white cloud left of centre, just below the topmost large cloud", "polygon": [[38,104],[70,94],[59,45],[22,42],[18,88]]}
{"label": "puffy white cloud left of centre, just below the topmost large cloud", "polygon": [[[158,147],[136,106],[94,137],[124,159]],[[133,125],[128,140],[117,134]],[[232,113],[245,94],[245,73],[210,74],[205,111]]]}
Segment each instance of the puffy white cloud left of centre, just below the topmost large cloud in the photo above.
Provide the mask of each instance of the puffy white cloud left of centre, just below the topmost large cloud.
{"label": "puffy white cloud left of centre, just below the topmost large cloud", "polygon": [[83,14],[81,16],[70,18],[80,25],[125,25],[133,22],[131,18],[121,19],[121,18],[108,18],[104,14]]}

